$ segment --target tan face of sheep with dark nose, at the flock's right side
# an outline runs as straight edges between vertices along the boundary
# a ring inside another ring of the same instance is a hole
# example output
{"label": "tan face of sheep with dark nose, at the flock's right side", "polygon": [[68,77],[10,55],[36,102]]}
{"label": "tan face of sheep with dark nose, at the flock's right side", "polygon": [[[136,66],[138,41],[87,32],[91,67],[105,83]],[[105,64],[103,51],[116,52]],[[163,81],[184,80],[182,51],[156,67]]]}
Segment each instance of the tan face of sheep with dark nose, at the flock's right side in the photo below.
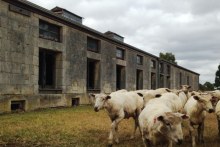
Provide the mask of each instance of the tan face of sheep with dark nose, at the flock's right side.
{"label": "tan face of sheep with dark nose, at the flock's right side", "polygon": [[209,94],[199,94],[194,95],[193,98],[197,100],[198,106],[200,109],[207,111],[209,113],[214,112],[213,106],[212,106],[212,96]]}

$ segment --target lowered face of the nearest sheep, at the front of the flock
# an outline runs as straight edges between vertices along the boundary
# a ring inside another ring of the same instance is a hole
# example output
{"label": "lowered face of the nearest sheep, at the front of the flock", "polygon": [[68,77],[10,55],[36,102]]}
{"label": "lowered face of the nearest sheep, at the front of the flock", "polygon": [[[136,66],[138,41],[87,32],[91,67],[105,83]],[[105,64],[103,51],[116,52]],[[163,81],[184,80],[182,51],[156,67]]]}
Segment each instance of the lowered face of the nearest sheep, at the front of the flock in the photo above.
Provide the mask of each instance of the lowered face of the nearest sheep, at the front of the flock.
{"label": "lowered face of the nearest sheep, at the front of the flock", "polygon": [[189,117],[181,113],[166,112],[157,118],[161,122],[160,133],[166,136],[167,139],[171,139],[177,144],[181,144],[183,141],[182,132],[182,120]]}

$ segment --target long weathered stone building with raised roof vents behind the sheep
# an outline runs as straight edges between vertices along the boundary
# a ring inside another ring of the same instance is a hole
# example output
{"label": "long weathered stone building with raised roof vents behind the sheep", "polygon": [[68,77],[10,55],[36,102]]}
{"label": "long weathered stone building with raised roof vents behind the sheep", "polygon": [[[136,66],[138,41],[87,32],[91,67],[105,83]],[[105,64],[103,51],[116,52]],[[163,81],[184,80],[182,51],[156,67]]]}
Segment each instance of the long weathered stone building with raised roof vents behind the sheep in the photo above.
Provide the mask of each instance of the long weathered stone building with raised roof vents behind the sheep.
{"label": "long weathered stone building with raised roof vents behind the sheep", "polygon": [[88,104],[89,92],[197,90],[199,74],[82,24],[63,8],[0,0],[0,113]]}

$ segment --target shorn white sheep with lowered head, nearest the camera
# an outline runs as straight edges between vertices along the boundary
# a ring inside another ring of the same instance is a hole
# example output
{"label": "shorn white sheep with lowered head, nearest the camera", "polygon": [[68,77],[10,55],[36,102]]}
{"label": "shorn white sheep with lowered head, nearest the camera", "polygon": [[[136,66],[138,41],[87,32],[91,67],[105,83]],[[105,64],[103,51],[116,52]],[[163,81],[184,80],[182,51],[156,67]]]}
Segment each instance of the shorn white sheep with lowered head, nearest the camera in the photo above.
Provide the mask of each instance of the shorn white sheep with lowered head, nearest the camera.
{"label": "shorn white sheep with lowered head, nearest the camera", "polygon": [[187,115],[172,112],[160,98],[149,100],[139,115],[144,145],[151,146],[164,141],[169,147],[172,147],[173,141],[181,144],[183,140],[181,122],[187,118]]}

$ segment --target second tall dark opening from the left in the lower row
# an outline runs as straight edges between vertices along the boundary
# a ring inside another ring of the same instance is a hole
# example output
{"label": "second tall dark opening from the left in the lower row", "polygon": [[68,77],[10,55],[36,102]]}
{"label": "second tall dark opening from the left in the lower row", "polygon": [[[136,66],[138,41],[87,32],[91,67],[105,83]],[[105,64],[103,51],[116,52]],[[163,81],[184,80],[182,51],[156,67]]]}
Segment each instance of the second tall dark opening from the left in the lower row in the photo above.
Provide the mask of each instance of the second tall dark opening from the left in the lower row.
{"label": "second tall dark opening from the left in the lower row", "polygon": [[100,62],[87,59],[87,88],[88,90],[100,90]]}

